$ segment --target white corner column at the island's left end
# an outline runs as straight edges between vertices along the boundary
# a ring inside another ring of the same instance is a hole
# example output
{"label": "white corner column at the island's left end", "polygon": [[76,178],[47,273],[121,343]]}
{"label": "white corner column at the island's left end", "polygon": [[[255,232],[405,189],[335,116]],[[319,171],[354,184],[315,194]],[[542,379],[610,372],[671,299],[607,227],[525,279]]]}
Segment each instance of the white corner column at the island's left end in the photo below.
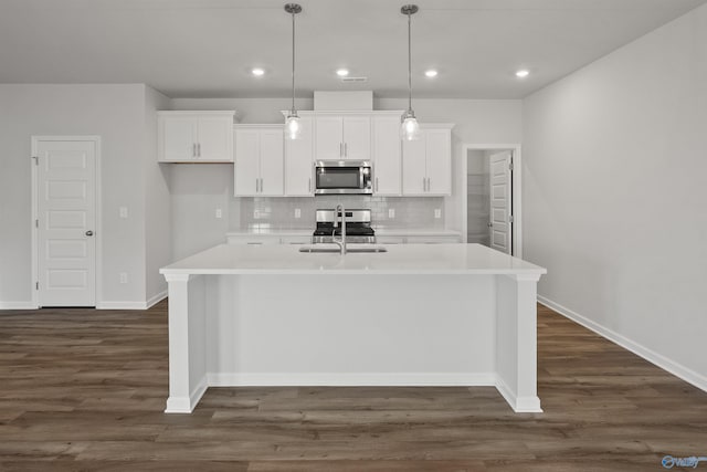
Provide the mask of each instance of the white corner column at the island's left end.
{"label": "white corner column at the island's left end", "polygon": [[203,276],[166,273],[169,397],[166,413],[191,413],[207,390]]}

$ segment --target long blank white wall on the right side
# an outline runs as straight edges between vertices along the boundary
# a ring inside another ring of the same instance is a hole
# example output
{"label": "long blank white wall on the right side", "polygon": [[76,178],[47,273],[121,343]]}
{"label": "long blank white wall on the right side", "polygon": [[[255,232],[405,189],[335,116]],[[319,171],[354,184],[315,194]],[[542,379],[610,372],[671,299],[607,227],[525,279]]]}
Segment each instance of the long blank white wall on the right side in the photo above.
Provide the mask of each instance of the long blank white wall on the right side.
{"label": "long blank white wall on the right side", "polygon": [[551,305],[707,389],[707,7],[524,102]]}

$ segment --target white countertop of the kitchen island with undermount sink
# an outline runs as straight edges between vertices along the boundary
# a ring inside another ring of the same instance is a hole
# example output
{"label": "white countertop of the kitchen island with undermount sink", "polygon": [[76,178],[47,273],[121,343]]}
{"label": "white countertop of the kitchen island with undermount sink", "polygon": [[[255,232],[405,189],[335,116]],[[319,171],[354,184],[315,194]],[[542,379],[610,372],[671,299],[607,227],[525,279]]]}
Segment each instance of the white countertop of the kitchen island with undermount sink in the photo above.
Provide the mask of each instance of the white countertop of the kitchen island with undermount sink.
{"label": "white countertop of the kitchen island with undermount sink", "polygon": [[[349,248],[361,244],[349,244]],[[293,245],[221,244],[160,269],[172,274],[524,274],[547,270],[481,244],[397,244],[383,253],[303,253]]]}

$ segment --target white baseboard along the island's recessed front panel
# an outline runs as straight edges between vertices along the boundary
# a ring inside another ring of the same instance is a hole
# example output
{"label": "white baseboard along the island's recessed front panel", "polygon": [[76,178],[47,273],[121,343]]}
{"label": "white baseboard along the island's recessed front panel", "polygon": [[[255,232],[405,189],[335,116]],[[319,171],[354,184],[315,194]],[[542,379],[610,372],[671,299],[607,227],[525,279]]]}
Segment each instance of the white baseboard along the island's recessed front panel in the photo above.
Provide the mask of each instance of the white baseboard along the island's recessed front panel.
{"label": "white baseboard along the island's recessed front panel", "polygon": [[209,374],[211,387],[495,387],[496,374],[463,373],[283,373]]}

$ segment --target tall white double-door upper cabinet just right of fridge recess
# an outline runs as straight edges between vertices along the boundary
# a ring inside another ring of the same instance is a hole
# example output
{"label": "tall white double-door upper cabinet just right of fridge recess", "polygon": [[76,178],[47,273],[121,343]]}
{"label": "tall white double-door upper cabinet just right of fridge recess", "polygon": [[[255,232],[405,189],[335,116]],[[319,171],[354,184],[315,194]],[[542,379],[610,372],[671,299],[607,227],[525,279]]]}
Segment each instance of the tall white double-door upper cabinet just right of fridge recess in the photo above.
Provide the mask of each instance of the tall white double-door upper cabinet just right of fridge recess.
{"label": "tall white double-door upper cabinet just right of fridge recess", "polygon": [[283,125],[236,125],[233,186],[236,197],[284,195]]}

